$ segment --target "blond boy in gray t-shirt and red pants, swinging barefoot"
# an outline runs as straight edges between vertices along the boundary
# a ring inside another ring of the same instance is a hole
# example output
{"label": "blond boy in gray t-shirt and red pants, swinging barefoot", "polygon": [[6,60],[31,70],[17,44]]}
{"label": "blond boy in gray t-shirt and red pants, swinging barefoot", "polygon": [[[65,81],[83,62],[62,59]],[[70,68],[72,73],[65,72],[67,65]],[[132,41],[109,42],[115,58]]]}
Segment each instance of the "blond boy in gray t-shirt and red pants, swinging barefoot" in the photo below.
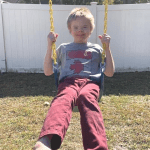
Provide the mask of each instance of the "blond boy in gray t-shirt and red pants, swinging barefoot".
{"label": "blond boy in gray t-shirt and red pants, swinging barefoot", "polygon": [[[34,150],[58,149],[65,137],[75,105],[81,115],[83,146],[85,150],[108,150],[103,118],[98,105],[99,83],[90,80],[98,73],[102,48],[87,42],[95,25],[87,8],[75,8],[67,20],[74,42],[61,44],[57,49],[60,69],[57,96],[51,103],[44,125]],[[52,43],[58,35],[50,32],[44,61],[44,73],[53,73]],[[108,77],[114,74],[114,61],[110,51],[110,36],[99,36],[106,44],[106,69]]]}

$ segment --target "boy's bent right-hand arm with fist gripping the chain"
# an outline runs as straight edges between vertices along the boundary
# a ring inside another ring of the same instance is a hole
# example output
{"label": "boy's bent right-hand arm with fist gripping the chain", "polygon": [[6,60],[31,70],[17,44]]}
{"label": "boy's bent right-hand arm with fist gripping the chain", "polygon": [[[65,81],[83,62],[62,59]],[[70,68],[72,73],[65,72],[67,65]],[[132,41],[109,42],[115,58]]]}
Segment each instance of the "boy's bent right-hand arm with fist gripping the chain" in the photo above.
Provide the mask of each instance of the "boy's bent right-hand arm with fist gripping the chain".
{"label": "boy's bent right-hand arm with fist gripping the chain", "polygon": [[115,72],[115,64],[110,50],[110,36],[107,34],[103,34],[102,36],[99,36],[99,38],[102,44],[106,44],[106,66],[104,74],[108,77],[112,77]]}

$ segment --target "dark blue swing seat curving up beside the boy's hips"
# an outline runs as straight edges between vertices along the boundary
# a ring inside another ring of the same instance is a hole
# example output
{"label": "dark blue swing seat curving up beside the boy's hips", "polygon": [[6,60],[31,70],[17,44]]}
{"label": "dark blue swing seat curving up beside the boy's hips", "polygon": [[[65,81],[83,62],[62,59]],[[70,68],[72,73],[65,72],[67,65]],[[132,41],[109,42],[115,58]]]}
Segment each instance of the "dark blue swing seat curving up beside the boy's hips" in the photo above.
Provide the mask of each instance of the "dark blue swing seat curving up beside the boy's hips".
{"label": "dark blue swing seat curving up beside the boy's hips", "polygon": [[[90,75],[90,80],[97,82],[100,86],[100,95],[99,100],[101,99],[103,93],[104,93],[104,71],[105,71],[105,62],[104,64],[100,63],[100,69],[98,71],[98,74],[96,75]],[[58,64],[53,64],[53,72],[54,72],[54,78],[55,78],[55,85],[56,88],[58,88]]]}

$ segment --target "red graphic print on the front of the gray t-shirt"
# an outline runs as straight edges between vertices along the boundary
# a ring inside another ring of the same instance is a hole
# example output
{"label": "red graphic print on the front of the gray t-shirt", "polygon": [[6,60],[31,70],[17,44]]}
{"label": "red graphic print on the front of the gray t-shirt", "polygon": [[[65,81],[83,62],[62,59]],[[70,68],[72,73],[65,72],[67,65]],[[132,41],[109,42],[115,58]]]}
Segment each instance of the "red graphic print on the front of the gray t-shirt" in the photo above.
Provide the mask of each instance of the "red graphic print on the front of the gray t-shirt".
{"label": "red graphic print on the front of the gray t-shirt", "polygon": [[72,50],[67,52],[67,59],[74,59],[73,64],[70,65],[70,69],[74,70],[75,74],[79,74],[84,70],[84,63],[81,60],[84,59],[84,62],[91,60],[92,53],[86,50]]}

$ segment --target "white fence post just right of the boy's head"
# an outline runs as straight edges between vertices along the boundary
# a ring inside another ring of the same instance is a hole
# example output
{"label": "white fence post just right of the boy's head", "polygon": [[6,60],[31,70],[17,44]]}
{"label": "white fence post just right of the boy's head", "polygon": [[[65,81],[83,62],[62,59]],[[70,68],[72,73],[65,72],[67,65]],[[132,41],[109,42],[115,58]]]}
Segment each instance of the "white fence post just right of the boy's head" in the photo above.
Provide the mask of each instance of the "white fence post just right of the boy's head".
{"label": "white fence post just right of the boy's head", "polygon": [[92,33],[92,37],[93,37],[93,43],[97,42],[97,2],[91,2],[91,13],[94,16],[94,20],[95,20],[95,29]]}

